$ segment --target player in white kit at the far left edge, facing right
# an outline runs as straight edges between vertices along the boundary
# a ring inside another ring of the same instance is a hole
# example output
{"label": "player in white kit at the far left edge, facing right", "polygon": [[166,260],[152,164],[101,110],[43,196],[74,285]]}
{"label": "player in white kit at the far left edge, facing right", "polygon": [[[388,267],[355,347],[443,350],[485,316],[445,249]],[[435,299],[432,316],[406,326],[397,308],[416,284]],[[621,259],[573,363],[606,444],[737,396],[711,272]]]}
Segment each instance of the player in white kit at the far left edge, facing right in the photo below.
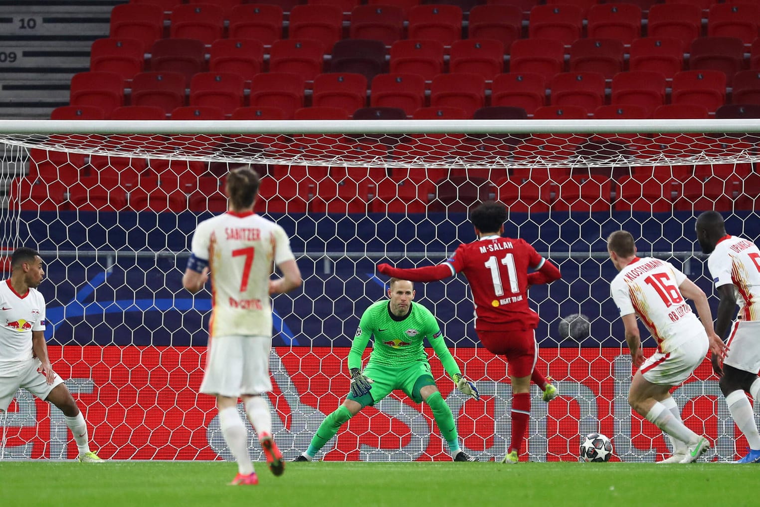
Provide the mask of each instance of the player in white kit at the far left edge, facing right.
{"label": "player in white kit at the far left edge, facing right", "polygon": [[0,410],[8,410],[19,388],[49,401],[63,412],[78,460],[100,463],[90,451],[84,416],[47,355],[45,298],[37,290],[45,276],[43,259],[33,249],[16,249],[11,270],[11,277],[0,282]]}

